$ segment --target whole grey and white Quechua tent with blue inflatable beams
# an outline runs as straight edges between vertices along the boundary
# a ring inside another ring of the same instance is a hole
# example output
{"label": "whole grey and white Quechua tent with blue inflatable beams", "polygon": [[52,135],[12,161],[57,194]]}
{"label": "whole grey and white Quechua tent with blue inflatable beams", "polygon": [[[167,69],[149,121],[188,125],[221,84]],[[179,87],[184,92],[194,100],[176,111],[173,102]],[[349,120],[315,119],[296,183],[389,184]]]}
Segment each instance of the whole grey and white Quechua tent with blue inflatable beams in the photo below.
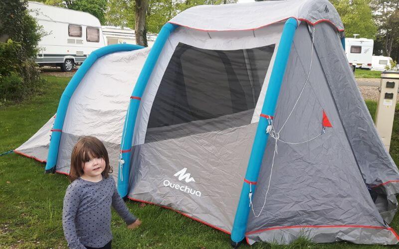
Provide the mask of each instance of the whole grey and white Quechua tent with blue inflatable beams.
{"label": "whole grey and white Quechua tent with blue inflatable beams", "polygon": [[[204,5],[152,47],[93,52],[56,116],[15,149],[67,174],[100,138],[121,196],[246,239],[397,244],[399,172],[327,0]],[[51,138],[50,138],[51,135]]]}

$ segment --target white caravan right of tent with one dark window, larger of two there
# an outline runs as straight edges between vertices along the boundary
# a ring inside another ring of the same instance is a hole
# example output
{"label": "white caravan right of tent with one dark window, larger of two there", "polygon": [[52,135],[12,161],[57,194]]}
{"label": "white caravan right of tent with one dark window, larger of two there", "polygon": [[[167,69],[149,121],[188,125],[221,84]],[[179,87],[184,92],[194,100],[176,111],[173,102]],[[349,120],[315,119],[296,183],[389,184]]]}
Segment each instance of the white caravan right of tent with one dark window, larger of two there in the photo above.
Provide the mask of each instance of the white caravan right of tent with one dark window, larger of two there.
{"label": "white caravan right of tent with one dark window, larger of two there", "polygon": [[349,63],[357,68],[371,69],[373,46],[373,39],[345,38],[345,53]]}

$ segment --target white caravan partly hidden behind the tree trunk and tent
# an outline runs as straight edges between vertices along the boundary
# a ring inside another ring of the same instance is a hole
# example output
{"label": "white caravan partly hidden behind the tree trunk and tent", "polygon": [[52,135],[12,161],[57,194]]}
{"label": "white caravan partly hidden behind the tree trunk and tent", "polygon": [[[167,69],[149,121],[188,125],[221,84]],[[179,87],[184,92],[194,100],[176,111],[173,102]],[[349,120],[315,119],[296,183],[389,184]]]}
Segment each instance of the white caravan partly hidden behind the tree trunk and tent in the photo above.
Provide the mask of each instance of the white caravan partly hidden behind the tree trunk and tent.
{"label": "white caravan partly hidden behind the tree trunk and tent", "polygon": [[[134,29],[121,28],[114,26],[102,26],[104,41],[106,45],[111,44],[136,44],[136,35]],[[147,43],[149,47],[155,42],[158,34],[147,33]]]}

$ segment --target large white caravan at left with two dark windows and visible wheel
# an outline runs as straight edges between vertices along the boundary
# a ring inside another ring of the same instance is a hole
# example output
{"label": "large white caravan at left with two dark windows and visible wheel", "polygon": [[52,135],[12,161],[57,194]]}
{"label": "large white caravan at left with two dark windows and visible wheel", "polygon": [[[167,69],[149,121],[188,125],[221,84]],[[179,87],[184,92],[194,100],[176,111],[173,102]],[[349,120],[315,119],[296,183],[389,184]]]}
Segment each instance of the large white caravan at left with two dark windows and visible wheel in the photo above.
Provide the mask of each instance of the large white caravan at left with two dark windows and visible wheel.
{"label": "large white caravan at left with two dark windows and visible wheel", "polygon": [[46,35],[35,62],[71,71],[94,50],[104,46],[100,21],[92,14],[29,1],[28,9]]}

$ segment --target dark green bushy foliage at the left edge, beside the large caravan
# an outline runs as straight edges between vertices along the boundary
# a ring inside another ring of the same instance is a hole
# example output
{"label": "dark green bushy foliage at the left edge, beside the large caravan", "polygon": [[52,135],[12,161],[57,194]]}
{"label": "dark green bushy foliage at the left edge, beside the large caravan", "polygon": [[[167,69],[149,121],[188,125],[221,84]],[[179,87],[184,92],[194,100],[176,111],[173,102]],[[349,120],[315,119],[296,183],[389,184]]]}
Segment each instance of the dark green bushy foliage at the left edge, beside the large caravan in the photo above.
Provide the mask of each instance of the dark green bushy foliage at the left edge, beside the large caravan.
{"label": "dark green bushy foliage at the left edge, beside the large caravan", "polygon": [[26,0],[0,2],[0,105],[20,101],[41,87],[31,57],[43,32],[26,6]]}

